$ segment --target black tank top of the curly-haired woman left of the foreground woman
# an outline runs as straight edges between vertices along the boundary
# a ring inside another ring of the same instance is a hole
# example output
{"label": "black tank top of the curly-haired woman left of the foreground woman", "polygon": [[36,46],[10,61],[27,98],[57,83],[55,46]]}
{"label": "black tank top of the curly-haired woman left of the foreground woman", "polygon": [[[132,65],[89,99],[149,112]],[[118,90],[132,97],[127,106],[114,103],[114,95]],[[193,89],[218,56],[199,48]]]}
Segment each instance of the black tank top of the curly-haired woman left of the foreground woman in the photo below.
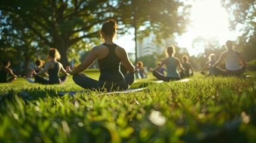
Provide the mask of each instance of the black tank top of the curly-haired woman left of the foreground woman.
{"label": "black tank top of the curly-haired woman left of the foreground woman", "polygon": [[53,69],[48,69],[49,84],[60,84],[60,79],[58,78],[58,71],[59,71],[58,63],[54,63]]}

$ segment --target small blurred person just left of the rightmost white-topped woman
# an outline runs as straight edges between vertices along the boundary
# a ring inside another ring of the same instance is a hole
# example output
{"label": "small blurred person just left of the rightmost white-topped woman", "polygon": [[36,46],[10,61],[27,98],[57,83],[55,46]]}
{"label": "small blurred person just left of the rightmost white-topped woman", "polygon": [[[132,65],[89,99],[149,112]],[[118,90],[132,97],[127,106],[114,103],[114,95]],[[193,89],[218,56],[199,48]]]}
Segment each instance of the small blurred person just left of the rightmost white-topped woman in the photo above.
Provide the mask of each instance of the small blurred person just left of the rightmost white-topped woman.
{"label": "small blurred person just left of the rightmost white-topped woman", "polygon": [[[216,58],[215,54],[212,53],[209,55],[209,57],[208,57],[209,61],[206,61],[205,66],[203,66],[203,68],[201,70],[202,74],[207,75],[207,76],[210,76],[210,75],[217,76],[218,75],[218,73],[216,71],[214,71],[214,68],[212,67],[212,65],[214,65],[216,63],[215,58]],[[206,69],[209,69],[208,74],[205,73]]]}

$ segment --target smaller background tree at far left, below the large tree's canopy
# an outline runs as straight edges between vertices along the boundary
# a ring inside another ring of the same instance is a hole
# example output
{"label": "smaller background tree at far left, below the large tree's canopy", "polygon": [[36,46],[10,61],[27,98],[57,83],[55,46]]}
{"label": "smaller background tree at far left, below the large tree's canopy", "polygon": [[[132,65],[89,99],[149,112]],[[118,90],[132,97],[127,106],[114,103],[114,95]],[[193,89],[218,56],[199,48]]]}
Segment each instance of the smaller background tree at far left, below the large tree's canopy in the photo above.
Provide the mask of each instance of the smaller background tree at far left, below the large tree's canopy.
{"label": "smaller background tree at far left, below the large tree's canopy", "polygon": [[[1,36],[1,60],[6,60],[11,55],[17,57],[11,61],[17,65],[18,74],[27,74],[29,72],[29,60],[38,54],[44,54],[45,45],[35,33],[24,27],[23,21],[19,18],[10,18],[0,15],[0,18],[5,21],[2,23],[0,32]],[[7,54],[9,53],[9,54]],[[7,57],[8,56],[8,57]],[[38,57],[36,57],[38,58]],[[21,62],[23,61],[23,62]],[[21,73],[21,63],[24,63],[24,71]]]}

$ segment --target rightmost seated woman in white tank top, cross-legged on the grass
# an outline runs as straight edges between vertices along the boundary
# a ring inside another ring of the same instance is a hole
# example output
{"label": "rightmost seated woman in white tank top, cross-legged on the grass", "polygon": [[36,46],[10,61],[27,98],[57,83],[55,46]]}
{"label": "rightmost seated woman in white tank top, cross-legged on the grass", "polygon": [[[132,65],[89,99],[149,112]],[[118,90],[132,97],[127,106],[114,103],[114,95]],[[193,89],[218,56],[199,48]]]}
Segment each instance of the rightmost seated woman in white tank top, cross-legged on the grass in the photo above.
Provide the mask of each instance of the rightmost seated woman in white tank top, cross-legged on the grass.
{"label": "rightmost seated woman in white tank top, cross-legged on the grass", "polygon": [[[235,51],[233,49],[233,42],[226,42],[227,50],[222,52],[218,61],[212,65],[214,67],[214,71],[222,76],[241,76],[246,69],[246,62],[243,60],[240,52]],[[225,60],[226,70],[217,67],[221,61]],[[239,65],[239,61],[243,64],[241,67]]]}

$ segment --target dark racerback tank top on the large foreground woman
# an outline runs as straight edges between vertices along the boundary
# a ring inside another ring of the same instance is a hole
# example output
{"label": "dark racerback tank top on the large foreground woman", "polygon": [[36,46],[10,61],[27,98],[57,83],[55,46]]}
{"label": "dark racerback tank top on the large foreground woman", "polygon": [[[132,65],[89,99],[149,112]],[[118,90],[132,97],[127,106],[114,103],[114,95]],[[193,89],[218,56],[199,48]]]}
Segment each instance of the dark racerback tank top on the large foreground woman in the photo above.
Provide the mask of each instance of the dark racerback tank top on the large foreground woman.
{"label": "dark racerback tank top on the large foreground woman", "polygon": [[107,57],[98,60],[98,67],[100,68],[101,81],[117,82],[124,80],[124,75],[120,71],[121,59],[116,55],[116,44],[110,45],[103,43],[104,46],[109,48],[109,54]]}

